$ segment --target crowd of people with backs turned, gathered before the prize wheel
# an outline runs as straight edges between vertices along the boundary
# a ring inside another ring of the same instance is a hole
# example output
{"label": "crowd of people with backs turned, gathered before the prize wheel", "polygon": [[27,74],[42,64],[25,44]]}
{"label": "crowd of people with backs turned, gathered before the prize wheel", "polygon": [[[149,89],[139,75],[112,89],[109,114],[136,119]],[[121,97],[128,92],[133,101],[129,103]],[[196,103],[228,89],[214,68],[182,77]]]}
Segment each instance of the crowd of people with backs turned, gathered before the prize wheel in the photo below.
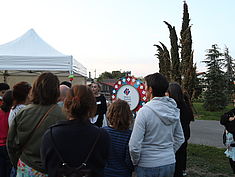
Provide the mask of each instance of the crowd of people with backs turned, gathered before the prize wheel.
{"label": "crowd of people with backs turned, gathered before the prize wheel", "polygon": [[107,106],[95,82],[47,72],[32,86],[0,83],[0,177],[185,176],[188,97],[160,73],[144,80],[148,102],[135,119],[126,101]]}

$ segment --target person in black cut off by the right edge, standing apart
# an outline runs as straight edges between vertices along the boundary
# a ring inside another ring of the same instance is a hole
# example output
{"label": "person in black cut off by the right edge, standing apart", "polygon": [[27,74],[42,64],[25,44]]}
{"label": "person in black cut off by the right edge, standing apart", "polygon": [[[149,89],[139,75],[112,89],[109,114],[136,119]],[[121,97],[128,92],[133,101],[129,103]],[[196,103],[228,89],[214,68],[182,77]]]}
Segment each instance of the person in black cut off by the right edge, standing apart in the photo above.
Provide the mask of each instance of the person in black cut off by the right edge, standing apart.
{"label": "person in black cut off by the right edge, standing apart", "polygon": [[225,126],[225,145],[227,146],[225,154],[235,174],[235,109],[222,115],[220,123]]}

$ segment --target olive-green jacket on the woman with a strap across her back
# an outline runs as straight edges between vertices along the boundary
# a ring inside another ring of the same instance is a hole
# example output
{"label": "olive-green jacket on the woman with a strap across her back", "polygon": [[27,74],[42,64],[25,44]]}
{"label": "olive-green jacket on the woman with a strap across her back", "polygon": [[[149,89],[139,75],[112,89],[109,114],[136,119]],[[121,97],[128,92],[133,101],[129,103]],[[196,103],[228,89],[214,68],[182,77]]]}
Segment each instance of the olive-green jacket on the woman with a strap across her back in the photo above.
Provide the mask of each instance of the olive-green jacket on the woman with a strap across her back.
{"label": "olive-green jacket on the woman with a strap across her back", "polygon": [[51,125],[59,120],[65,120],[61,108],[56,105],[44,122],[33,133],[40,119],[52,107],[31,104],[21,109],[9,129],[7,148],[12,164],[16,167],[19,158],[33,169],[45,172],[41,157],[40,146],[42,136]]}

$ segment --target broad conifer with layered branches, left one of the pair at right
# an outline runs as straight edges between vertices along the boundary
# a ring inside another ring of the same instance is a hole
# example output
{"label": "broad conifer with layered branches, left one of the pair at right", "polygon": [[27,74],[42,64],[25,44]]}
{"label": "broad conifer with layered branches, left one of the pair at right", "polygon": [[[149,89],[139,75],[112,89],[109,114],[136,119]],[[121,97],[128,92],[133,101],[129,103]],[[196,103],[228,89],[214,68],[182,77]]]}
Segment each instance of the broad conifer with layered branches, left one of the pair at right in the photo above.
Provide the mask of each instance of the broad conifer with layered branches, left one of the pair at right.
{"label": "broad conifer with layered branches, left one of the pair at right", "polygon": [[223,59],[220,58],[222,55],[217,44],[214,44],[207,50],[207,58],[204,60],[208,71],[205,75],[206,91],[203,106],[207,111],[222,110],[227,104],[225,77],[222,71]]}

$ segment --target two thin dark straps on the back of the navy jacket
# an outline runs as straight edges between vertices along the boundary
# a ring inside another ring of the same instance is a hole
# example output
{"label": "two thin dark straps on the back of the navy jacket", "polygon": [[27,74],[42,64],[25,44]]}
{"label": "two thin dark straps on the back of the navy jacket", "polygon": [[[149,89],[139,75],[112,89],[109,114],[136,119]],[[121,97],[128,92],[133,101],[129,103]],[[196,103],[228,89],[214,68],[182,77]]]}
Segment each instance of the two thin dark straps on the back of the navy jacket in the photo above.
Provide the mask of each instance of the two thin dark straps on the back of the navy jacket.
{"label": "two thin dark straps on the back of the navy jacket", "polygon": [[[58,150],[58,148],[57,148],[57,146],[56,146],[55,139],[53,138],[53,135],[52,135],[52,128],[53,128],[53,127],[50,127],[50,136],[51,136],[51,140],[52,140],[53,147],[54,147],[54,149],[55,149],[57,155],[59,156],[59,159],[62,161],[62,163],[63,163],[62,165],[67,165],[67,163],[64,161],[62,155],[59,153],[59,150]],[[91,147],[91,150],[89,151],[89,153],[88,153],[88,155],[87,155],[85,161],[82,163],[82,165],[80,165],[80,166],[77,167],[77,168],[81,168],[82,166],[86,166],[86,163],[87,163],[87,161],[89,160],[89,158],[90,158],[90,156],[91,156],[91,153],[93,152],[93,150],[94,150],[94,148],[95,148],[95,145],[97,144],[97,142],[98,142],[98,140],[99,140],[99,138],[100,138],[100,134],[101,134],[101,132],[100,132],[100,130],[99,130],[98,136],[96,137],[96,140],[95,140],[95,142],[93,143],[93,145],[92,145],[92,147]]]}

